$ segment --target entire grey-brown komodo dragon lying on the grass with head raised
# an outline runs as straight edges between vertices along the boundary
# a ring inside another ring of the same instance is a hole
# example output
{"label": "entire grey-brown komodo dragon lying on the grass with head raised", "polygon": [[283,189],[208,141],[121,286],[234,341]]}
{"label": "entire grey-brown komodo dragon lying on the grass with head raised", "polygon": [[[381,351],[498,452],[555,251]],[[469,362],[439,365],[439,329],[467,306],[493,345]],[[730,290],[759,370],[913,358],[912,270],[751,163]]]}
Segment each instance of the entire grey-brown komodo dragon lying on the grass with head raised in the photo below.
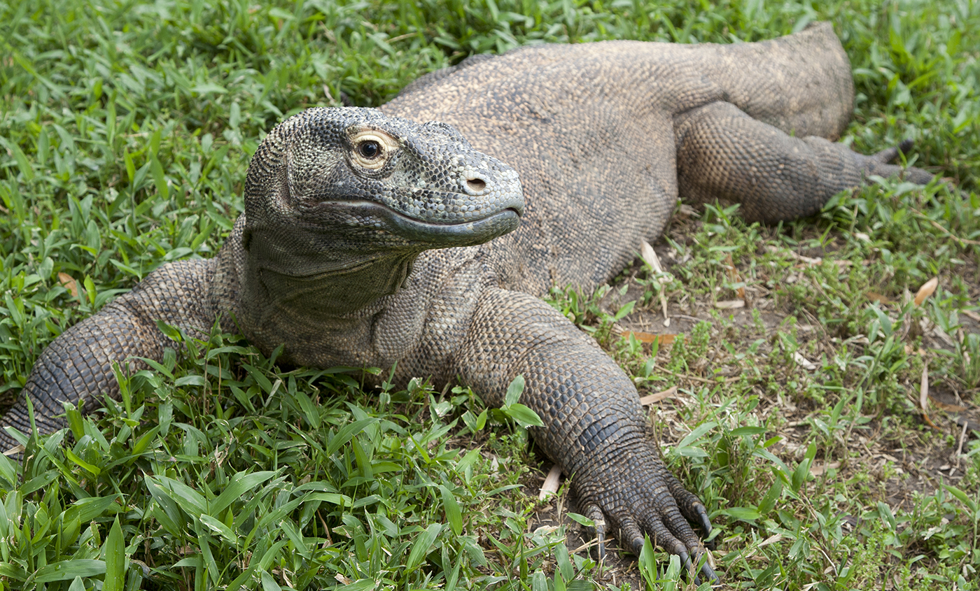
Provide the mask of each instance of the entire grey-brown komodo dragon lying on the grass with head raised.
{"label": "entire grey-brown komodo dragon lying on the grass with head raised", "polygon": [[[896,150],[828,141],[853,99],[823,23],[760,43],[526,47],[426,75],[379,110],[297,114],[252,159],[218,256],[161,266],[42,353],[24,388],[37,428],[63,428],[64,400],[115,392],[113,360],[161,359],[158,319],[207,333],[221,316],[267,353],[285,343],[289,363],[397,364],[403,384],[459,381],[494,405],[522,374],[545,423],[532,435],[600,538],[605,517],[634,552],[647,533],[690,565],[704,505],[662,464],[629,378],[538,296],[613,278],[678,195],[773,222],[901,173]],[[26,417],[22,399],[2,424],[25,432]]]}

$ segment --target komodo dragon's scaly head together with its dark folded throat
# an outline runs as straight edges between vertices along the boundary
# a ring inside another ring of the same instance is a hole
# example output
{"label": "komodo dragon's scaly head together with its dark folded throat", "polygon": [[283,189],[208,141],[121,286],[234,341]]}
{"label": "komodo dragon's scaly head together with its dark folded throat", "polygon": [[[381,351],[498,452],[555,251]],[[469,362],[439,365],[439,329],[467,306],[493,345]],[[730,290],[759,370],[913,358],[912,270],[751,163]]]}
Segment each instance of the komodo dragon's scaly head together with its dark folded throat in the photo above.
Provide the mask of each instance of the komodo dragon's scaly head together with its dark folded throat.
{"label": "komodo dragon's scaly head together with its dark folded throat", "polygon": [[348,313],[397,292],[422,250],[487,242],[523,210],[515,170],[450,125],[310,109],[276,126],[249,164],[246,289]]}

